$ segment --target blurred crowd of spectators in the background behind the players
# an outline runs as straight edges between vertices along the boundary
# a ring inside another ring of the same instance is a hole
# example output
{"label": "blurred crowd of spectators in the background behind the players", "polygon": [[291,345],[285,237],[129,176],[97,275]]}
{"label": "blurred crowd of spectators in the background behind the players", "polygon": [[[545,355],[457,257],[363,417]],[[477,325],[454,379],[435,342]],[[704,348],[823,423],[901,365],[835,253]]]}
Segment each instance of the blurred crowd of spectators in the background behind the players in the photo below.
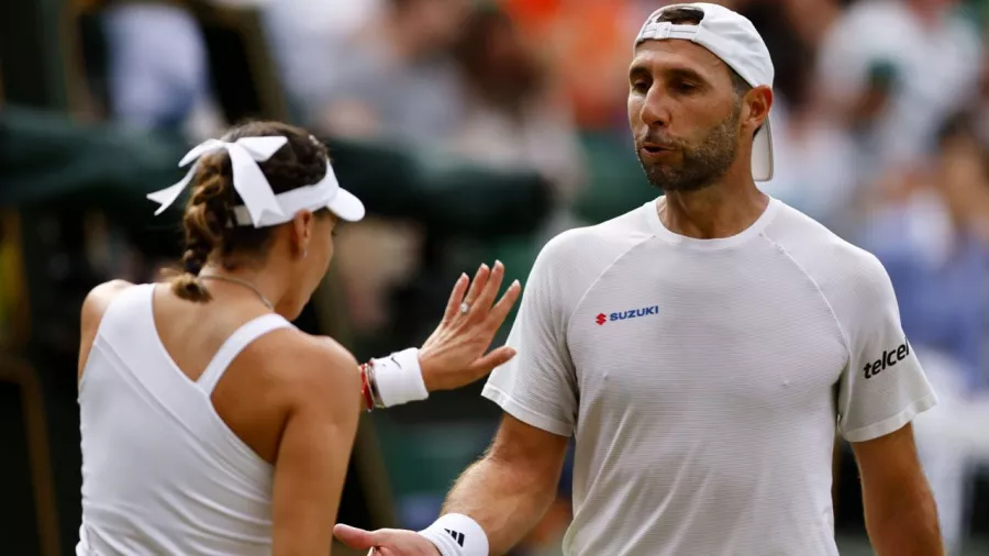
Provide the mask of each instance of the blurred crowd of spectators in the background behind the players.
{"label": "blurred crowd of spectators in the background behind the players", "polygon": [[[536,246],[593,223],[574,210],[590,176],[602,174],[588,137],[625,148],[634,164],[632,38],[648,13],[673,3],[213,1],[259,11],[295,123],[414,146],[437,160],[540,173],[555,210]],[[193,2],[85,3],[99,4],[107,36],[109,118],[178,130],[190,142],[222,132],[229,122],[211,91]],[[719,3],[753,21],[776,65],[777,166],[762,187],[875,253],[890,274],[942,398],[916,429],[957,546],[971,481],[989,468],[989,2]],[[418,271],[423,237],[408,223],[369,219],[340,248],[349,313],[374,333],[392,318],[389,290]]]}

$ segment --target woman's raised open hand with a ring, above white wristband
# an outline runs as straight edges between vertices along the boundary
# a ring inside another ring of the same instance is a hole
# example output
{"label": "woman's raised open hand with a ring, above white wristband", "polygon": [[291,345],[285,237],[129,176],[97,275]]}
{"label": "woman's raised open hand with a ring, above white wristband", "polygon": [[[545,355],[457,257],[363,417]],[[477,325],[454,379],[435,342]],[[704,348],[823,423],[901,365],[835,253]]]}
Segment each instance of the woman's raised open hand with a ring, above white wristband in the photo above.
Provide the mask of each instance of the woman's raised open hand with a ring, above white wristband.
{"label": "woman's raised open hand with a ring, above white wristband", "polygon": [[494,303],[503,278],[504,266],[496,262],[493,269],[481,265],[473,282],[466,274],[457,280],[443,321],[419,351],[419,366],[429,391],[469,385],[515,356],[508,346],[485,355],[522,292],[515,280]]}

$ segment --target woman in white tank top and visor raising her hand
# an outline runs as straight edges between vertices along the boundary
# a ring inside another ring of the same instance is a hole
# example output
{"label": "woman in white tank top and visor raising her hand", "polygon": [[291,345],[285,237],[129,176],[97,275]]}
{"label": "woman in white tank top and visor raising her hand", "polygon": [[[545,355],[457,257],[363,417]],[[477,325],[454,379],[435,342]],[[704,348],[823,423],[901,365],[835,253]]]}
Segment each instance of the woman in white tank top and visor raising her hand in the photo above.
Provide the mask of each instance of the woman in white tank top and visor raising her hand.
{"label": "woman in white tank top and visor raising her hand", "polygon": [[340,221],[364,207],[325,147],[255,122],[192,149],[182,273],[112,281],[82,307],[79,556],[330,554],[362,409],[421,400],[487,375],[519,297],[503,268],[462,276],[436,332],[358,367],[346,348],[290,324],[333,256]]}

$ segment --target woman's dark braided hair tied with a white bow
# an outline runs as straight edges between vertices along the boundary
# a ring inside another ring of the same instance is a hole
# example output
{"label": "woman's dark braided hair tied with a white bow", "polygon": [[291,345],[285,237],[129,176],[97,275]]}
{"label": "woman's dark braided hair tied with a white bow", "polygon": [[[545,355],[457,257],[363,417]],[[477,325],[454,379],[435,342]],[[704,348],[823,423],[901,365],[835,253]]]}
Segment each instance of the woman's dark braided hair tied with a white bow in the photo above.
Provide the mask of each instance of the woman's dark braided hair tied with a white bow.
{"label": "woman's dark braided hair tied with a white bow", "polygon": [[[279,122],[249,122],[229,131],[223,141],[242,137],[285,136],[288,144],[268,160],[258,163],[275,193],[319,182],[326,175],[326,147],[309,132]],[[199,273],[211,258],[226,269],[237,266],[233,255],[264,255],[273,227],[231,226],[233,209],[243,204],[233,187],[230,156],[220,152],[199,160],[191,193],[182,215],[186,252],[182,269],[171,290],[189,301],[210,300]],[[329,212],[329,211],[319,211]]]}

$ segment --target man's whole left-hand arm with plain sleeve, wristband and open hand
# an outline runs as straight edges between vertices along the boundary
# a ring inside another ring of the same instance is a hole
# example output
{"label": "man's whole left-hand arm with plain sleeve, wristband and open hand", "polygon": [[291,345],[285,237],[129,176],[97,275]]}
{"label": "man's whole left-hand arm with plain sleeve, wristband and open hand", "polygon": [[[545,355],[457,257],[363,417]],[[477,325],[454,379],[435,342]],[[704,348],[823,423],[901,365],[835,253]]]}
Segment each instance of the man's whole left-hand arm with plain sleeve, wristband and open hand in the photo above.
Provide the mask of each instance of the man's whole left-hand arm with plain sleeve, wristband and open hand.
{"label": "man's whole left-hand arm with plain sleeve, wristband and open hand", "polygon": [[341,541],[391,556],[487,556],[508,551],[545,513],[579,411],[566,329],[570,298],[582,291],[563,296],[559,283],[571,267],[558,260],[586,248],[580,240],[564,234],[551,241],[533,265],[507,342],[518,356],[491,374],[482,392],[505,416],[491,448],[457,481],[446,513],[421,533],[337,525]]}

